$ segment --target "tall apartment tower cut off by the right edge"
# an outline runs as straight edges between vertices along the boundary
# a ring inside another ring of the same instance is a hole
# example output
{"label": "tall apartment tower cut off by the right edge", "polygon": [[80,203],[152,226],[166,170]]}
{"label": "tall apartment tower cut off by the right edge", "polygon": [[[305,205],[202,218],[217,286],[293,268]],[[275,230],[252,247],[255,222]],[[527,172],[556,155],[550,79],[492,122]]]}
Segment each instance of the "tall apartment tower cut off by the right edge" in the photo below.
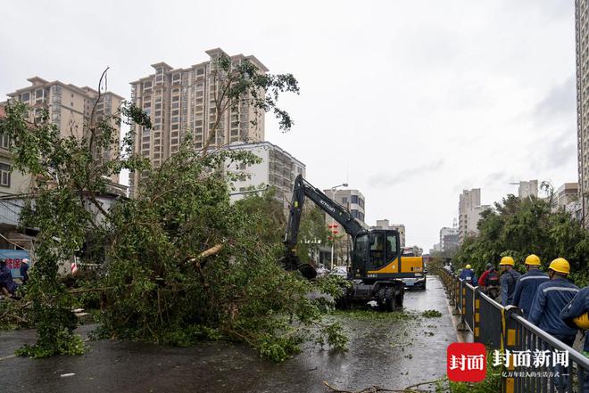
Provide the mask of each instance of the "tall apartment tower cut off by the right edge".
{"label": "tall apartment tower cut off by the right edge", "polygon": [[577,49],[577,170],[584,225],[589,225],[589,1],[575,0]]}

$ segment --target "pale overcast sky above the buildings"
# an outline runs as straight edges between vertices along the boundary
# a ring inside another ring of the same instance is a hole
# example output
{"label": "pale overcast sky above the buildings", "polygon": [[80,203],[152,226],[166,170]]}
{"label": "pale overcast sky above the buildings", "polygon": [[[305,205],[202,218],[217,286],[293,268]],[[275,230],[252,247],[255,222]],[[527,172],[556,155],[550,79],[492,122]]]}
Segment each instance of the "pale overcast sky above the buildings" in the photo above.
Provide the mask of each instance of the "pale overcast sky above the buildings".
{"label": "pale overcast sky above the buildings", "polygon": [[287,134],[266,135],[320,188],[348,181],[369,224],[406,225],[429,249],[458,214],[462,189],[483,203],[510,182],[577,181],[574,2],[4,2],[0,93],[27,78],[109,90],[205,50],[253,54],[290,72]]}

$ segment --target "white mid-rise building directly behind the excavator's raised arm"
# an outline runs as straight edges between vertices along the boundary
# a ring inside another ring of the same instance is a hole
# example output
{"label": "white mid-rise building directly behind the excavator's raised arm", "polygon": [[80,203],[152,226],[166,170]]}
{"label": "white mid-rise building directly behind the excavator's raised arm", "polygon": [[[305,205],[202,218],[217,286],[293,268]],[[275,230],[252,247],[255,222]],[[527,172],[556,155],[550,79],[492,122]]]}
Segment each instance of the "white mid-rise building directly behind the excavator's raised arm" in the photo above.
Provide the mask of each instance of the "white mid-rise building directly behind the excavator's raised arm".
{"label": "white mid-rise building directly behind the excavator's raised arm", "polygon": [[[263,185],[270,185],[274,187],[274,197],[284,204],[287,217],[288,206],[293,197],[294,178],[298,175],[305,176],[303,162],[270,142],[235,143],[230,144],[228,149],[251,151],[261,159],[259,164],[246,166],[242,163],[238,168],[230,168],[247,175],[247,178],[233,183],[235,191],[245,192],[251,187],[261,189]],[[243,195],[236,193],[232,199],[240,199]]]}

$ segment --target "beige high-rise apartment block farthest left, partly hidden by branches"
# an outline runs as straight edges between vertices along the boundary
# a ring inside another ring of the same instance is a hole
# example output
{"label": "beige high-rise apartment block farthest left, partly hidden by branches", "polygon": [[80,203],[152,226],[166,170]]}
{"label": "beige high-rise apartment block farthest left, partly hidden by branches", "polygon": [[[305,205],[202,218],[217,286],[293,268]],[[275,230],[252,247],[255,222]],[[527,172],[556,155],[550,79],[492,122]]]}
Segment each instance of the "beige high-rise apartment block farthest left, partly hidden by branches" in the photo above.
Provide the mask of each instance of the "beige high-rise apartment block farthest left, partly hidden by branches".
{"label": "beige high-rise apartment block farthest left, partly hidden by branches", "polygon": [[[12,100],[29,105],[29,121],[31,122],[39,123],[43,112],[47,111],[49,121],[59,128],[62,136],[83,136],[84,126],[90,121],[93,110],[95,111],[95,119],[101,119],[119,111],[123,100],[120,95],[103,92],[100,94],[99,101],[96,102],[99,94],[88,86],[73,86],[59,80],[48,82],[38,77],[27,80],[30,82],[30,86],[7,95]],[[120,135],[120,125],[114,119],[112,119],[111,125],[116,129],[116,135]],[[95,158],[96,160],[100,160],[101,157],[109,158],[118,149],[117,143],[116,146],[112,146],[112,149],[95,151]],[[126,192],[123,190],[125,187],[118,185],[118,175],[113,175],[111,182],[113,185],[117,185],[117,192]]]}

